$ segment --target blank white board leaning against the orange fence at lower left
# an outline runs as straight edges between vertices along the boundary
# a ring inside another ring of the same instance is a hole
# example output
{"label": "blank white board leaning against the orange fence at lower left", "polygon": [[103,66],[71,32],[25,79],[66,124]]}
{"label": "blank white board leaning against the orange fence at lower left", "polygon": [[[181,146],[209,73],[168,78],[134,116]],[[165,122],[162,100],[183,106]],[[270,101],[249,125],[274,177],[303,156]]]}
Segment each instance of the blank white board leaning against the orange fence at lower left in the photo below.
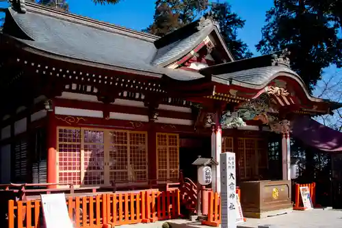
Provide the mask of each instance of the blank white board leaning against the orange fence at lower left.
{"label": "blank white board leaning against the orange fence at lower left", "polygon": [[46,228],[73,228],[64,193],[40,195]]}

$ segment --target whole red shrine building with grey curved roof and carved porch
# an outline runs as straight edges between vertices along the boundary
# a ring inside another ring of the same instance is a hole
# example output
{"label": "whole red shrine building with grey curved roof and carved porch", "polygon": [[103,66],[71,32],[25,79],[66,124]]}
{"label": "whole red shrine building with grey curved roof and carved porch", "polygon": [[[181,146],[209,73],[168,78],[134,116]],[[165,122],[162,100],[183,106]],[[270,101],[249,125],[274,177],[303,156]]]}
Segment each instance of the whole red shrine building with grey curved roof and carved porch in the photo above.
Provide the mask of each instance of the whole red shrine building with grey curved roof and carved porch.
{"label": "whole red shrine building with grey curved roof and carved porch", "polygon": [[21,2],[0,42],[3,184],[144,189],[196,181],[192,162],[222,152],[238,185],[291,180],[293,123],[341,107],[309,94],[287,51],[236,61],[210,18],[160,38]]}

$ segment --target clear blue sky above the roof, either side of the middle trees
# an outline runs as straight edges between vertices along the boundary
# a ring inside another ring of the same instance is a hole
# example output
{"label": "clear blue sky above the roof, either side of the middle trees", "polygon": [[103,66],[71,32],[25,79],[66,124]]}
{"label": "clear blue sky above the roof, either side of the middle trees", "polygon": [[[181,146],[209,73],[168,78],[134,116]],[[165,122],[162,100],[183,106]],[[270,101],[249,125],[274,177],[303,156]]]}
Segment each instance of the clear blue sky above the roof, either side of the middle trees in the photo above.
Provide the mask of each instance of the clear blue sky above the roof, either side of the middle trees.
{"label": "clear blue sky above the roof, either side of the middle trees", "polygon": [[[233,12],[246,20],[239,38],[257,54],[254,45],[261,39],[261,27],[265,24],[265,12],[273,5],[273,0],[230,0]],[[70,11],[89,16],[130,29],[141,30],[153,21],[155,0],[122,0],[117,5],[94,5],[90,0],[69,0]]]}

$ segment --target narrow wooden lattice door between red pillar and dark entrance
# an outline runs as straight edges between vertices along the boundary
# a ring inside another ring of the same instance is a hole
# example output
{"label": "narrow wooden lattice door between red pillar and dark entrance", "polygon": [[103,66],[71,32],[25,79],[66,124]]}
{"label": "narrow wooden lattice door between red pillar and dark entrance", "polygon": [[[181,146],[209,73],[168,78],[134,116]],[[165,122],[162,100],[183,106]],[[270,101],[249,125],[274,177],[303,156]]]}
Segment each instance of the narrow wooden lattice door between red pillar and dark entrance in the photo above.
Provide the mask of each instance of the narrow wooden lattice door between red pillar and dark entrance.
{"label": "narrow wooden lattice door between red pillar and dark entrance", "polygon": [[158,180],[179,177],[179,134],[157,133]]}

